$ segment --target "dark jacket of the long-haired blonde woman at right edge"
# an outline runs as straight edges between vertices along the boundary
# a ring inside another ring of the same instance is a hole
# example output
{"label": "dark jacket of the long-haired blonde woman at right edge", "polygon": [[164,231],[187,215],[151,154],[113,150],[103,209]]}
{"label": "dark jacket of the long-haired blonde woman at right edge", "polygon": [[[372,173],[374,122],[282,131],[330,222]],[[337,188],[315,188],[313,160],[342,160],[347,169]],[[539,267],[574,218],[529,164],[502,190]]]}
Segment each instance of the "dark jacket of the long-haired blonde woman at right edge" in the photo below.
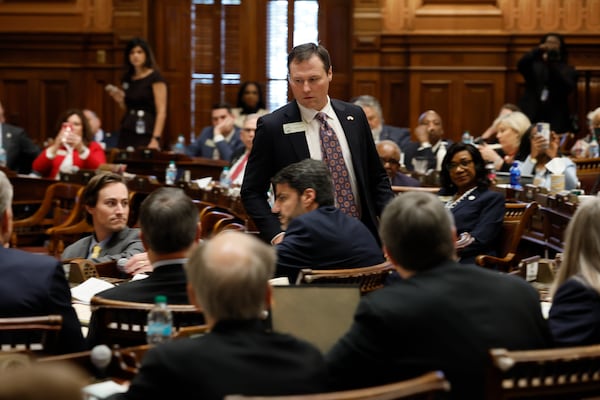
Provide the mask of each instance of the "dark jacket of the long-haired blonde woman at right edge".
{"label": "dark jacket of the long-haired blonde woman at right edge", "polygon": [[569,278],[552,299],[548,324],[559,346],[600,343],[600,294],[583,282]]}

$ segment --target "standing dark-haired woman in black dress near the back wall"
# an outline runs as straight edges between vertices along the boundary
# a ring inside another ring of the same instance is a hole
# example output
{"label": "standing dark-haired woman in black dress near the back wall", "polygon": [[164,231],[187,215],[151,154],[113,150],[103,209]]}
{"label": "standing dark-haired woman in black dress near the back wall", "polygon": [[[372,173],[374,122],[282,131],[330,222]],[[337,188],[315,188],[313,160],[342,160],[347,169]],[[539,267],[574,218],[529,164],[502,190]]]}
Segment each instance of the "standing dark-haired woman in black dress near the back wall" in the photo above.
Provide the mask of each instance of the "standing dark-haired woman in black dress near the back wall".
{"label": "standing dark-haired woman in black dress near the back wall", "polygon": [[159,72],[148,43],[131,39],[125,47],[122,89],[106,90],[125,109],[119,130],[119,148],[160,149],[167,118],[167,84]]}

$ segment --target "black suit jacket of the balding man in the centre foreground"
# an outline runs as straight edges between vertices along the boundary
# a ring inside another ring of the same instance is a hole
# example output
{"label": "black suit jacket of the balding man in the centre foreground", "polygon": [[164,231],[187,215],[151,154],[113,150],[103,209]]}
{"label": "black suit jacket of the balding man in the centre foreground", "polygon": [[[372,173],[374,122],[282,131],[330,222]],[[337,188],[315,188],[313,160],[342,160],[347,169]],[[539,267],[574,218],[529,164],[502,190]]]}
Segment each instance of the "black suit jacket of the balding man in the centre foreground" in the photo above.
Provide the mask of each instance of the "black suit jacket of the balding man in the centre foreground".
{"label": "black suit jacket of the balding man in the centre foreground", "polygon": [[323,357],[314,346],[267,332],[261,321],[221,321],[202,337],[150,349],[127,393],[111,399],[222,400],[227,394],[325,391]]}

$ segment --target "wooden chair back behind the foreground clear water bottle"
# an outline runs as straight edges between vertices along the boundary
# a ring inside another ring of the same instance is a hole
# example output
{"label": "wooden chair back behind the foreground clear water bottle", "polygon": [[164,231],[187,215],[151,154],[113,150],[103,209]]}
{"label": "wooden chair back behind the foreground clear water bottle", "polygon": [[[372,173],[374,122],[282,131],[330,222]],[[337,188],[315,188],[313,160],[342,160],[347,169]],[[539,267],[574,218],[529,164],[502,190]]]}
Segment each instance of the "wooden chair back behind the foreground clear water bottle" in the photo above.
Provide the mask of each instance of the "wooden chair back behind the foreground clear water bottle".
{"label": "wooden chair back behind the foreground clear water bottle", "polygon": [[[108,300],[94,296],[90,301],[92,317],[90,333],[94,331],[93,343],[121,347],[146,343],[146,320],[152,303]],[[169,304],[173,313],[173,330],[177,334],[184,326],[204,324],[204,316],[193,305]],[[92,326],[93,325],[93,326]]]}

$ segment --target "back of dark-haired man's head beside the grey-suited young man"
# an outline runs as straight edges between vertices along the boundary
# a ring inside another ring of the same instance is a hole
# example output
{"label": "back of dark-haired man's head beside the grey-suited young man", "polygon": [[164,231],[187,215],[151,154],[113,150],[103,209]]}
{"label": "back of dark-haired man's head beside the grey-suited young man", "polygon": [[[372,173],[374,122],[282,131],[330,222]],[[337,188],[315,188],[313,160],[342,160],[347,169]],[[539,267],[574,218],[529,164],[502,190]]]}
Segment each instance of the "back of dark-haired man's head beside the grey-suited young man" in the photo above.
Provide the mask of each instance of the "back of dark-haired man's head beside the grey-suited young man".
{"label": "back of dark-haired man's head beside the grey-suited young man", "polygon": [[196,239],[198,208],[181,189],[163,187],[150,193],[139,218],[144,243],[155,253],[185,250]]}

